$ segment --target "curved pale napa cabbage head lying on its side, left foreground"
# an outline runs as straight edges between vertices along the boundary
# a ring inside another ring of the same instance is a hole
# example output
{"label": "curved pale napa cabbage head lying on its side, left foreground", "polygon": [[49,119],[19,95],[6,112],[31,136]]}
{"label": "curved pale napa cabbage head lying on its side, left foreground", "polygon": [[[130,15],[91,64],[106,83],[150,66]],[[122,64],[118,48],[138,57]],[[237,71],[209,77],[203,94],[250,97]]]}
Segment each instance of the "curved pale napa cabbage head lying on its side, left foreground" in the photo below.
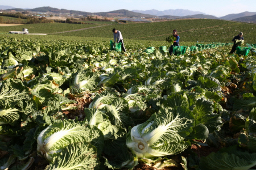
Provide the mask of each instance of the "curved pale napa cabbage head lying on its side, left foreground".
{"label": "curved pale napa cabbage head lying on its side, left foreground", "polygon": [[93,144],[95,143],[93,138],[98,138],[96,139],[98,144],[104,141],[104,136],[100,130],[90,128],[84,122],[55,122],[39,134],[37,151],[39,155],[51,162],[53,154],[61,152],[66,146],[76,142],[91,142]]}

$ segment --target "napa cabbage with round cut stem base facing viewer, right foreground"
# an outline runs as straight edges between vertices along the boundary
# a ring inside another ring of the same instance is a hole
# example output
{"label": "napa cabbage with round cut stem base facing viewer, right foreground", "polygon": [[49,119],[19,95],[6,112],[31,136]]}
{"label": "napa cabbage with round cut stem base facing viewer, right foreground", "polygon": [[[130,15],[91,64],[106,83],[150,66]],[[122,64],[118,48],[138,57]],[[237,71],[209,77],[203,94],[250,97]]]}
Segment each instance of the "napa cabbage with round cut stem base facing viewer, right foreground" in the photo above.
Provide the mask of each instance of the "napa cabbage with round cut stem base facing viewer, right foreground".
{"label": "napa cabbage with round cut stem base facing viewer, right foreground", "polygon": [[138,158],[179,154],[189,146],[184,138],[195,125],[185,107],[162,108],[143,124],[130,128],[126,145]]}

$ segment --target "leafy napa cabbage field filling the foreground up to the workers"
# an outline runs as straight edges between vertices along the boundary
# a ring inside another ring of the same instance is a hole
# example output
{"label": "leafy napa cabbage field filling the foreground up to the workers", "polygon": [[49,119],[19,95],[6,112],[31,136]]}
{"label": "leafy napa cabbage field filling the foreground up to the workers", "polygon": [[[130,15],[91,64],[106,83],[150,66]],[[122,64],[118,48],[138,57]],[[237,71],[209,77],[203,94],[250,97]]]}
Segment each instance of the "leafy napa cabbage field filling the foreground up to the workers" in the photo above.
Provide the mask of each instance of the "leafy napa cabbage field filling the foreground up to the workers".
{"label": "leafy napa cabbage field filling the foreground up to the workers", "polygon": [[256,44],[129,42],[0,37],[0,169],[255,169]]}

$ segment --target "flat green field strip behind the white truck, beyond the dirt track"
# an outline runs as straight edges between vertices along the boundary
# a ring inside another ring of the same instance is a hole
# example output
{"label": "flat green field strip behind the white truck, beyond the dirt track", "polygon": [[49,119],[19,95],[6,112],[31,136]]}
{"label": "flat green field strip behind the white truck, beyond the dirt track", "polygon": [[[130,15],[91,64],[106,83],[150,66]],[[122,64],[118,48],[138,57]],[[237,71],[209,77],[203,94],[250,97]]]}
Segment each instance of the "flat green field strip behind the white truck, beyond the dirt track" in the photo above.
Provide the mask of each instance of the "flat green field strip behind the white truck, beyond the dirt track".
{"label": "flat green field strip behind the white truck, beyond the dirt track", "polygon": [[8,33],[9,31],[22,31],[27,28],[30,33],[54,33],[71,31],[74,29],[95,27],[95,24],[65,24],[65,23],[46,23],[46,24],[26,24],[10,27],[0,27],[0,32]]}

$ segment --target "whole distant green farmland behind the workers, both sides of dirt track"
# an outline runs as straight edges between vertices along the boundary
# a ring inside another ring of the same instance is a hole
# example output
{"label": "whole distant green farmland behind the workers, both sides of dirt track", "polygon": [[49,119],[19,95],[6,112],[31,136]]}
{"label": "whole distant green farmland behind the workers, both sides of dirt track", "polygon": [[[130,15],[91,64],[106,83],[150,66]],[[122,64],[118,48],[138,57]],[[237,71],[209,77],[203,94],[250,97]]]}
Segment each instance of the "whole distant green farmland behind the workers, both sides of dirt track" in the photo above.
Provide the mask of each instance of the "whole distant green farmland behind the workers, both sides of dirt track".
{"label": "whole distant green farmland behind the workers, both sides of dirt track", "polygon": [[[171,35],[173,29],[177,29],[177,34],[180,36],[180,42],[231,42],[233,37],[238,35],[239,32],[243,32],[246,43],[254,44],[256,42],[256,24],[231,22],[226,20],[188,19],[157,23],[131,23],[113,25],[100,23],[26,24],[10,27],[0,27],[0,33],[8,33],[9,31],[22,31],[22,28],[27,28],[30,33],[55,33],[54,35],[59,37],[98,37],[110,40],[113,39],[112,29],[116,28],[122,32],[123,39],[125,39],[125,41],[129,39],[165,41],[166,36]],[[93,28],[76,31],[77,29],[91,27]]]}

